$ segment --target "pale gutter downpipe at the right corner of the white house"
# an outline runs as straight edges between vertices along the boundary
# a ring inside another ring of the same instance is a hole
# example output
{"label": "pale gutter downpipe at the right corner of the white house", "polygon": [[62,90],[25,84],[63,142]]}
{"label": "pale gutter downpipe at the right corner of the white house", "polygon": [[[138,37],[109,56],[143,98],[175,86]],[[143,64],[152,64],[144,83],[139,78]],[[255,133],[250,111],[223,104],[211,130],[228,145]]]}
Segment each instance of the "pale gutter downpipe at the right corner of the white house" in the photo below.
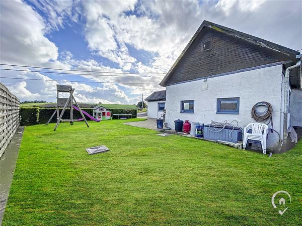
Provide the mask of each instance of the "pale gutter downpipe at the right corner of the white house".
{"label": "pale gutter downpipe at the right corner of the white house", "polygon": [[283,110],[281,114],[283,114],[283,140],[285,140],[288,136],[287,134],[287,118],[288,118],[288,95],[289,95],[289,72],[293,68],[299,67],[301,61],[298,61],[295,65],[286,68],[285,70],[285,78],[284,78],[284,104]]}

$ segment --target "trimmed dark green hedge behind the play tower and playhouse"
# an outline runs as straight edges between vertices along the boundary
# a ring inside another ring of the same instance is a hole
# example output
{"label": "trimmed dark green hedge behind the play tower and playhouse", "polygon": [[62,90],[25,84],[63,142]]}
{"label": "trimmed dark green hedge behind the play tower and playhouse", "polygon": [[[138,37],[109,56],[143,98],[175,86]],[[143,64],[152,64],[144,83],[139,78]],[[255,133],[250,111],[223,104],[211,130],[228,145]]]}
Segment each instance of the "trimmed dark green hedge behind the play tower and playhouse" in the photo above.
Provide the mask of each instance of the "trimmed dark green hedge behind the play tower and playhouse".
{"label": "trimmed dark green hedge behind the play tower and playhouse", "polygon": [[[46,124],[56,108],[39,108],[39,107],[21,107],[21,125],[30,126],[35,124]],[[81,108],[92,116],[92,108]],[[61,110],[61,109],[60,109]],[[132,118],[137,117],[136,109],[108,109],[111,114],[131,114]],[[60,111],[61,112],[61,111]],[[69,119],[70,110],[66,108],[62,119]],[[85,116],[85,115],[84,115]],[[73,110],[73,119],[81,119],[80,111]],[[90,120],[85,116],[87,120]],[[51,123],[56,122],[56,116],[51,120]]]}

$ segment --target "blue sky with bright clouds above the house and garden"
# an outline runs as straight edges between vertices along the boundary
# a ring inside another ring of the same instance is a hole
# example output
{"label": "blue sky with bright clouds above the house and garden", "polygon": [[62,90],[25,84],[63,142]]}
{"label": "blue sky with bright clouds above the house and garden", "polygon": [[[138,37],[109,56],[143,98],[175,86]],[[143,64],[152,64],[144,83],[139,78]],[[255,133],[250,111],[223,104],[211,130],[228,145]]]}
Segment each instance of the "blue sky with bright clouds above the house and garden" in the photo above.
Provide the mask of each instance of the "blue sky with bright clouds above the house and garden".
{"label": "blue sky with bright clouds above the house and garden", "polygon": [[[164,89],[159,85],[164,73],[203,20],[302,49],[301,5],[301,1],[259,0],[2,0],[1,64],[97,71],[102,76],[1,66],[25,71],[0,70],[0,81],[20,101],[55,101],[56,84],[70,84],[79,102],[135,104],[142,94],[147,97]],[[147,77],[149,73],[155,76]]]}

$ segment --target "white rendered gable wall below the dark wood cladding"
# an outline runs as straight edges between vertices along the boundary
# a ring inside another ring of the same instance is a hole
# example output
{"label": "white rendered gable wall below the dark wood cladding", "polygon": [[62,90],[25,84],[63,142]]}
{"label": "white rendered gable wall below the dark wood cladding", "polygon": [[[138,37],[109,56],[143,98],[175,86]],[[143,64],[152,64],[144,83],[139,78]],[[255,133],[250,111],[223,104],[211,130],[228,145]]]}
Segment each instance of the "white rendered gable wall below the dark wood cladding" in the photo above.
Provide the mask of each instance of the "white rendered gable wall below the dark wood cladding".
{"label": "white rendered gable wall below the dark wood cladding", "polygon": [[[167,86],[166,120],[174,129],[174,120],[210,124],[211,120],[232,122],[237,120],[239,127],[255,122],[251,110],[255,103],[267,101],[273,107],[274,130],[280,133],[280,109],[282,87],[282,65],[270,66],[225,76],[216,76],[181,84]],[[204,90],[203,90],[204,89]],[[238,115],[216,114],[217,98],[240,97]],[[194,113],[180,113],[181,100],[194,100]],[[280,150],[279,136],[269,133],[268,150]]]}

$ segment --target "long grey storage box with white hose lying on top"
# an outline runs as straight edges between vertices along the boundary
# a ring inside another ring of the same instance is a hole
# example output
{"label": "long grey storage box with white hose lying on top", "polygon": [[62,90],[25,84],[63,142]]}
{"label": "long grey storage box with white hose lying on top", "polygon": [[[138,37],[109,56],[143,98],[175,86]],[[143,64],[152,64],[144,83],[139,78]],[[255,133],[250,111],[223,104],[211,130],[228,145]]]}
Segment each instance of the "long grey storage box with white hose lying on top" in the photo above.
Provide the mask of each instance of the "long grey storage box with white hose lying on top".
{"label": "long grey storage box with white hose lying on top", "polygon": [[[214,141],[228,141],[236,143],[237,141],[242,141],[242,131],[240,128],[226,126],[223,130],[222,127],[213,127],[211,126],[211,130],[209,130],[210,125],[205,125],[203,127],[203,138],[214,140]],[[220,132],[213,132],[214,130],[221,130]],[[233,131],[232,131],[233,130]],[[231,134],[230,134],[231,133]]]}

